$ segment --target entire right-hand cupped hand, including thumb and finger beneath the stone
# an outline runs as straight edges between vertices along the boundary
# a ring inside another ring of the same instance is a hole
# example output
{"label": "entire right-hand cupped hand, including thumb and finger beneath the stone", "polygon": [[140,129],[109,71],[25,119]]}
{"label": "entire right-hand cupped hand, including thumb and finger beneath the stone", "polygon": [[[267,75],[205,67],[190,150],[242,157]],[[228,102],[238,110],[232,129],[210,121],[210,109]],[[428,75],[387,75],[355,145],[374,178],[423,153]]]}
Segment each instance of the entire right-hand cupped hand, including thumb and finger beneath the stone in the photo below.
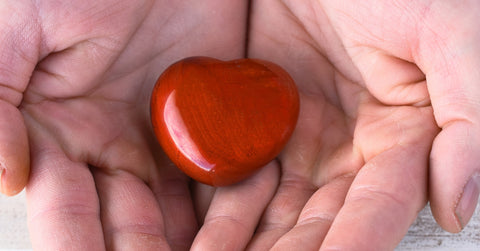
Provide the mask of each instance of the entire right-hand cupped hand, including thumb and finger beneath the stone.
{"label": "entire right-hand cupped hand, including thumb and finger beneath the stone", "polygon": [[[478,197],[465,184],[480,183],[478,1],[258,0],[252,10],[248,56],[292,74],[300,118],[271,164],[278,188],[218,189],[194,249],[216,235],[225,250],[391,250],[427,199],[460,231]],[[255,203],[268,204],[256,230]]]}

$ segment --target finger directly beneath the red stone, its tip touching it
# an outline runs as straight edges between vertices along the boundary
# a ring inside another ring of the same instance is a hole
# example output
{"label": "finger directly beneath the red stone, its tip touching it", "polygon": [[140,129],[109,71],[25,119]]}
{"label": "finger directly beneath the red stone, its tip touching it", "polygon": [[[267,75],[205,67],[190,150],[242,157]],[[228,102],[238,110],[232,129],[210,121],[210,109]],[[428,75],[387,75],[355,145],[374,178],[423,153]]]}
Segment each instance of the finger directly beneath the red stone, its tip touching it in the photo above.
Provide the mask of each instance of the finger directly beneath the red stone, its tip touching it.
{"label": "finger directly beneath the red stone, its tip touching it", "polygon": [[248,180],[217,188],[192,250],[244,250],[275,192],[278,176],[278,163],[272,161]]}

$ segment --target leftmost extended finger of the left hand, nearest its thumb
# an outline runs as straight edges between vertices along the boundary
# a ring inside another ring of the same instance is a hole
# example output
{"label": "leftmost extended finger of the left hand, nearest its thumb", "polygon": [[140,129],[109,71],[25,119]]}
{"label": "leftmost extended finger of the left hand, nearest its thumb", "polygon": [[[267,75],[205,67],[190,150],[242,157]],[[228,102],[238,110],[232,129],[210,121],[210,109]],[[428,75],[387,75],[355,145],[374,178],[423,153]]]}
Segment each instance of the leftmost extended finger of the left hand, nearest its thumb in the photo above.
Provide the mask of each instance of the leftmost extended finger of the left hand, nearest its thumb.
{"label": "leftmost extended finger of the left hand, nearest its thumb", "polygon": [[32,148],[28,226],[35,250],[103,250],[95,183],[87,165],[47,143]]}

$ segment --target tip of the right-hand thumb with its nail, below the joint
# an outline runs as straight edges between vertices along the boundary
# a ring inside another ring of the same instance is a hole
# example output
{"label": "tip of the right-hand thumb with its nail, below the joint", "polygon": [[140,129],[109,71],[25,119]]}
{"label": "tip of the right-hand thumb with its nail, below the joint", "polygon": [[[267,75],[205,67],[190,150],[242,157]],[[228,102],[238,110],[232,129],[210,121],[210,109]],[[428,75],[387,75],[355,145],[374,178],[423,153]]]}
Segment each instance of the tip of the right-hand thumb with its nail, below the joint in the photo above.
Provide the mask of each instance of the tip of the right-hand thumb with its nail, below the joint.
{"label": "tip of the right-hand thumb with its nail, below the joint", "polygon": [[430,205],[437,223],[458,233],[478,203],[480,133],[471,123],[455,122],[436,137],[430,157]]}

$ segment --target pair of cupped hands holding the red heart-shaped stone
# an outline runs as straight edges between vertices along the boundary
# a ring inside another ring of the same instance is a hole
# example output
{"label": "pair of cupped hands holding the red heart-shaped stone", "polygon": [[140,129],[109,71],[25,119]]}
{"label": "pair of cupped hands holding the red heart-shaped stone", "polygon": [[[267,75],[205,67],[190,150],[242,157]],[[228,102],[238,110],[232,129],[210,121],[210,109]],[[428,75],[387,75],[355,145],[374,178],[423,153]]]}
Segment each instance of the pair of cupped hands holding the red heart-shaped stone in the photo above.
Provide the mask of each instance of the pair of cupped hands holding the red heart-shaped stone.
{"label": "pair of cupped hands holding the red heart-shaped stone", "polygon": [[[1,191],[45,250],[389,250],[430,202],[457,232],[480,184],[480,3],[0,3]],[[273,61],[300,116],[239,184],[189,180],[150,93],[188,56]]]}

